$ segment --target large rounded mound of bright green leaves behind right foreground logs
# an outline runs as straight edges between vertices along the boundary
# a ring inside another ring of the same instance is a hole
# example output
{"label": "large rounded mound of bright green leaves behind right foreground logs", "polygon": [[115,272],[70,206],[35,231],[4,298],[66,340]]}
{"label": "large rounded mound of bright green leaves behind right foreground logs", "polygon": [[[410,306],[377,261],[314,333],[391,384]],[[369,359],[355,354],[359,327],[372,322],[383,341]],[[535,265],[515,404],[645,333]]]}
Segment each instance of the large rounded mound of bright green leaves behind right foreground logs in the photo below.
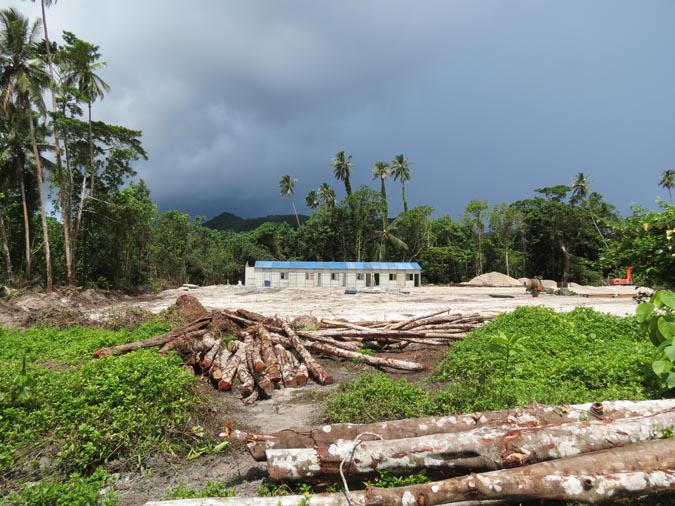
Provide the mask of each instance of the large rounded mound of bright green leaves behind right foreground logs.
{"label": "large rounded mound of bright green leaves behind right foreground logs", "polygon": [[[494,336],[527,337],[504,371]],[[443,412],[501,409],[538,402],[561,404],[658,395],[649,343],[635,318],[577,308],[556,313],[521,307],[453,344],[436,378]]]}

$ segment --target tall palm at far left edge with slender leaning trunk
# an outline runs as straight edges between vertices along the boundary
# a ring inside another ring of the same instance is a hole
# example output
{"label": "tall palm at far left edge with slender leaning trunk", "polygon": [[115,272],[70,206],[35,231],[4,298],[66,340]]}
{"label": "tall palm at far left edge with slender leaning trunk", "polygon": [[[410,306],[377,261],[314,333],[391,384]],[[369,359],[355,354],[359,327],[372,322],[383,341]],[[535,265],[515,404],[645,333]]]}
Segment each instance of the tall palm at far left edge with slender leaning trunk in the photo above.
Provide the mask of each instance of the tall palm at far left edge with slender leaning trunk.
{"label": "tall palm at far left edge with slender leaning trunk", "polygon": [[47,292],[53,290],[52,260],[47,230],[47,208],[44,195],[44,174],[35,135],[33,105],[38,112],[45,113],[42,92],[50,83],[45,63],[39,58],[39,21],[32,24],[28,18],[15,9],[0,12],[0,86],[3,111],[7,114],[10,104],[16,112],[26,118],[30,130],[31,144],[38,180],[42,237],[45,248]]}

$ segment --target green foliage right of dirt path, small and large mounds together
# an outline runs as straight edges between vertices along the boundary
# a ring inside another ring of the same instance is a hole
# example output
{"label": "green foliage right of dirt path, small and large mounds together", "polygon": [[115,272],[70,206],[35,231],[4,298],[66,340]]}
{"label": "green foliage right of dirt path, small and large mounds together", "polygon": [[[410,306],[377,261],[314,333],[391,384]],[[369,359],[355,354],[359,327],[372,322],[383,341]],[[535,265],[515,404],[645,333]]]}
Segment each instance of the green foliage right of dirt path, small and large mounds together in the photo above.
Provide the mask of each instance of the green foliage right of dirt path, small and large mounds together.
{"label": "green foliage right of dirt path, small and large mounds together", "polygon": [[653,347],[635,318],[579,308],[521,307],[454,343],[439,364],[436,393],[365,374],[340,386],[327,417],[372,422],[529,404],[569,404],[660,395]]}

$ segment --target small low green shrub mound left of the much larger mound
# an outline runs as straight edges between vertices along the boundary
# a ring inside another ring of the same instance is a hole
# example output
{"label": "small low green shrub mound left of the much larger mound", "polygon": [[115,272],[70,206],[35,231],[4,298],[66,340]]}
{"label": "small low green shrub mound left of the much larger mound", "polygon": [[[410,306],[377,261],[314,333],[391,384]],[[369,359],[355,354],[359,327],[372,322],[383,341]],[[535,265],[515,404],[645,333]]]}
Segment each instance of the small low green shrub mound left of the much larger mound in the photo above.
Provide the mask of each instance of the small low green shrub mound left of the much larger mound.
{"label": "small low green shrub mound left of the much larger mound", "polygon": [[328,403],[330,422],[369,423],[412,418],[436,410],[432,395],[406,380],[393,380],[384,373],[364,374],[340,385],[340,395]]}

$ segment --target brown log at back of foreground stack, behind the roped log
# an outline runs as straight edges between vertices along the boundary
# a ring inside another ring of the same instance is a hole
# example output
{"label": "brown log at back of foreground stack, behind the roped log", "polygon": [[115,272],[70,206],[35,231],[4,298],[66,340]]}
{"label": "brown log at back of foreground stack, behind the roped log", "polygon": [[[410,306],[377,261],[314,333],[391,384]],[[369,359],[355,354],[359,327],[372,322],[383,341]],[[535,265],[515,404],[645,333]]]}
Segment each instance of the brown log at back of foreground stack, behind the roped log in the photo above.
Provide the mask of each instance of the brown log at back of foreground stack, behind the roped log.
{"label": "brown log at back of foreground stack, behind the roped log", "polygon": [[[287,429],[269,434],[254,434],[233,430],[232,439],[246,442],[251,456],[257,461],[265,460],[265,451],[285,448],[328,447],[336,440],[354,440],[360,434],[361,440],[373,441],[406,439],[433,434],[466,432],[480,427],[494,427],[505,430],[528,427],[544,427],[561,423],[577,422],[594,416],[600,410],[596,403],[571,406],[548,406],[536,404],[526,408],[483,413],[460,414],[443,417],[411,418],[389,420],[369,424],[339,423],[310,430]],[[609,401],[602,404],[604,419],[617,420],[635,416],[646,416],[663,410],[675,409],[675,399],[652,401]],[[591,411],[593,410],[593,411]],[[597,416],[597,415],[595,415]],[[370,435],[369,435],[370,434]],[[377,434],[377,437],[372,434]]]}

